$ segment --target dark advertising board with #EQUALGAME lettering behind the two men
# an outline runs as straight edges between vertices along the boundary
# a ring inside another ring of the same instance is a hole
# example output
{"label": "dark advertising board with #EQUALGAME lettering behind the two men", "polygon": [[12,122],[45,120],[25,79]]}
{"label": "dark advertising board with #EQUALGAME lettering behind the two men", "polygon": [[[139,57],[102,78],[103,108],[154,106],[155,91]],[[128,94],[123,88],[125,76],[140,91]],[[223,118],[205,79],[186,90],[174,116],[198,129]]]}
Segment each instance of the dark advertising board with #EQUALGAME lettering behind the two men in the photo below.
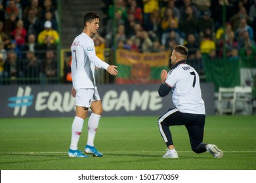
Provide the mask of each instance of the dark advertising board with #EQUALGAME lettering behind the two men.
{"label": "dark advertising board with #EQUALGAME lettering behind the two men", "polygon": [[[103,116],[161,116],[174,107],[171,93],[158,95],[160,84],[98,85]],[[74,116],[71,85],[0,86],[0,118]],[[207,114],[214,114],[214,86],[202,84]]]}

